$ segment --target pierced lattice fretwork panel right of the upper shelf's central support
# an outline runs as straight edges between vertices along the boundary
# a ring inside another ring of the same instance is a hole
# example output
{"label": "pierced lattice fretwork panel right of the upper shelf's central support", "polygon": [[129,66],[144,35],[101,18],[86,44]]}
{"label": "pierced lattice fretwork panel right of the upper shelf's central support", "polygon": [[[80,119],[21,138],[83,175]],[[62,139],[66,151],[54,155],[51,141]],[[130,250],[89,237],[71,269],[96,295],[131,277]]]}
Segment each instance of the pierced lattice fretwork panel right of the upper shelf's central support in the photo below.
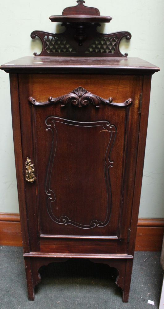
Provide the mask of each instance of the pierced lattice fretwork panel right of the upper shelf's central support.
{"label": "pierced lattice fretwork panel right of the upper shelf's central support", "polygon": [[86,53],[114,53],[117,41],[117,36],[97,37],[88,47]]}

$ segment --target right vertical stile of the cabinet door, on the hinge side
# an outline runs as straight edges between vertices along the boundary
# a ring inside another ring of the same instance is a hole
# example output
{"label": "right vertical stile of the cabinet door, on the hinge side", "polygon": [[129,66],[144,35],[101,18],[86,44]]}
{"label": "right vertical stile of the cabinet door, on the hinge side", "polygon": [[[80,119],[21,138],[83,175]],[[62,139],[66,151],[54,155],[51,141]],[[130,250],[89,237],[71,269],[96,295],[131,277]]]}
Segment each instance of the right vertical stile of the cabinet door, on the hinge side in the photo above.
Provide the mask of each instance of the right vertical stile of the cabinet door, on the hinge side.
{"label": "right vertical stile of the cabinet door, on the hinge side", "polygon": [[[125,169],[123,179],[123,207],[120,214],[120,239],[127,239],[130,229],[133,191],[135,186],[136,164],[137,164],[137,148],[139,137],[140,116],[138,113],[140,93],[142,92],[143,77],[134,76],[132,87],[132,98],[134,98],[132,106],[129,108],[128,145],[125,155]],[[125,227],[125,222],[128,223],[128,228]],[[136,222],[137,227],[137,222]]]}

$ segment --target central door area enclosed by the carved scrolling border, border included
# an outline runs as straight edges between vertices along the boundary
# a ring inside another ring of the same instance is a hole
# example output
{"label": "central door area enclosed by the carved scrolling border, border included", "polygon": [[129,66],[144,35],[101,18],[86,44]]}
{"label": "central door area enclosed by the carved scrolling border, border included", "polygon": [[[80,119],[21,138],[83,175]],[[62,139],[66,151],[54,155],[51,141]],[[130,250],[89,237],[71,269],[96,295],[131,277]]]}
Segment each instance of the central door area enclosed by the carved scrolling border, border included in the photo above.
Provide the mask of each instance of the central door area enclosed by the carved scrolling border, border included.
{"label": "central door area enclosed by the carved scrolling border, border included", "polygon": [[45,122],[53,135],[45,183],[48,214],[60,225],[106,226],[111,212],[109,168],[116,127],[108,121],[68,121],[55,116]]}

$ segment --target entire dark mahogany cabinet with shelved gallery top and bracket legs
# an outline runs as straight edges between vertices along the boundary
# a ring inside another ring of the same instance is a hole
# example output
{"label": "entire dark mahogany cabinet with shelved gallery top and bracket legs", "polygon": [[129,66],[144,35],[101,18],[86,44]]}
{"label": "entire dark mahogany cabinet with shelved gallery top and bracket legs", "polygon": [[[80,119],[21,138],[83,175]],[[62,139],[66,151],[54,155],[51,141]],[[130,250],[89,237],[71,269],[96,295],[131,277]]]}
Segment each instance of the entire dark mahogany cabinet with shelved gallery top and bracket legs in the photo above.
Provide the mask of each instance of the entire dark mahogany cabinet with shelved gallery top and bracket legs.
{"label": "entire dark mahogany cabinet with shelved gallery top and bracket legs", "polygon": [[[76,10],[79,7],[86,10],[83,1]],[[83,34],[77,33],[79,24],[74,21],[74,12],[66,13],[60,18],[68,19],[63,21],[68,26],[68,38],[70,25],[74,26],[72,32],[76,35],[71,44],[75,54],[70,55],[70,49],[69,55],[57,49],[48,52],[44,40],[40,56],[23,57],[1,66],[10,73],[28,295],[34,299],[42,265],[87,258],[117,269],[116,283],[127,302],[151,75],[159,68],[139,58],[123,57],[119,44],[114,52],[102,52],[98,43],[98,55],[95,48],[89,57],[85,51],[91,40],[94,44],[88,28]],[[81,11],[78,14],[81,16]],[[101,16],[98,12],[90,15],[85,18],[87,23],[91,20],[95,36]],[[51,16],[53,21],[60,18]],[[86,21],[80,25],[86,25]],[[131,36],[122,33],[105,38]],[[33,38],[36,35],[32,34]],[[44,32],[45,36],[50,34]],[[58,39],[64,44],[60,36]]]}

